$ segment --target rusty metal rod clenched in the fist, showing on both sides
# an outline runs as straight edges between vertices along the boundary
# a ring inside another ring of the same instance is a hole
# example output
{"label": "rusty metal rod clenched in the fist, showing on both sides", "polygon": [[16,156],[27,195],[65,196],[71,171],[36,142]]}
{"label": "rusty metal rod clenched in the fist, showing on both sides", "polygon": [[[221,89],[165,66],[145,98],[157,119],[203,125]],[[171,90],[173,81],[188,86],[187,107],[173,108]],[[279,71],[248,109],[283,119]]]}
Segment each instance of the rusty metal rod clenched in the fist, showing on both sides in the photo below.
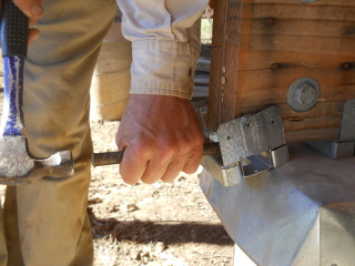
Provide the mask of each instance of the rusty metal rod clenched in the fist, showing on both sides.
{"label": "rusty metal rod clenched in the fist, showing on both sides", "polygon": [[[103,166],[111,164],[120,164],[123,158],[124,152],[105,152],[105,153],[93,153],[92,165]],[[215,155],[221,154],[220,143],[204,143],[203,155]]]}

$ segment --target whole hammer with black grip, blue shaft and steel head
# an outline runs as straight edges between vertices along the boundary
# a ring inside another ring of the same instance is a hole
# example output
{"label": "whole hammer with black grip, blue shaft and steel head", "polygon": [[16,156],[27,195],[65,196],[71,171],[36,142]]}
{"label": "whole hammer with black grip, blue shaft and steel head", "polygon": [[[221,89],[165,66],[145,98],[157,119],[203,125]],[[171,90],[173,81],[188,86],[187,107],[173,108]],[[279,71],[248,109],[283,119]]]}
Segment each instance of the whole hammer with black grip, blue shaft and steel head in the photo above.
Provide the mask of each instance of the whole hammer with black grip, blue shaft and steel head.
{"label": "whole hammer with black grip, blue shaft and steel head", "polygon": [[41,177],[73,175],[71,152],[33,158],[23,133],[23,66],[27,57],[29,20],[12,0],[1,1],[1,44],[4,100],[0,125],[0,184],[26,185]]}

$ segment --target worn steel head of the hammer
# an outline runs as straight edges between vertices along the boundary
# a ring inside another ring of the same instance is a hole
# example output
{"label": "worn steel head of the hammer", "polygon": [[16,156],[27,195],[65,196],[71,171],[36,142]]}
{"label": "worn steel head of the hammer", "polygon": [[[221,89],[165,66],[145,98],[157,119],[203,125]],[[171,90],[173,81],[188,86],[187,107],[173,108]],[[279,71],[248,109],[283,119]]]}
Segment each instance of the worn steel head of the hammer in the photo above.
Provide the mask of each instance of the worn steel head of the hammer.
{"label": "worn steel head of the hammer", "polygon": [[41,177],[71,177],[71,152],[58,152],[48,158],[32,158],[23,136],[0,137],[0,184],[26,185]]}

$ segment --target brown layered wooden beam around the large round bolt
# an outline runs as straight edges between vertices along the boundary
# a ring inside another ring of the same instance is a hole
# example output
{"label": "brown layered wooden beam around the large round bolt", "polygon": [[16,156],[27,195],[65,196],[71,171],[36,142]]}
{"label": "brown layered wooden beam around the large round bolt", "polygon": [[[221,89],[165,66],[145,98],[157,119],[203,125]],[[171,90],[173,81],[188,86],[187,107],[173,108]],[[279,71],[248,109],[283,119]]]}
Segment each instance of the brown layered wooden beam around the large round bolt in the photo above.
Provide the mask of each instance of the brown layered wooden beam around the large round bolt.
{"label": "brown layered wooden beam around the large round bolt", "polygon": [[[211,129],[276,105],[287,142],[338,139],[343,104],[355,99],[355,1],[303,1],[215,2]],[[287,92],[304,76],[317,81],[321,96],[297,112]]]}

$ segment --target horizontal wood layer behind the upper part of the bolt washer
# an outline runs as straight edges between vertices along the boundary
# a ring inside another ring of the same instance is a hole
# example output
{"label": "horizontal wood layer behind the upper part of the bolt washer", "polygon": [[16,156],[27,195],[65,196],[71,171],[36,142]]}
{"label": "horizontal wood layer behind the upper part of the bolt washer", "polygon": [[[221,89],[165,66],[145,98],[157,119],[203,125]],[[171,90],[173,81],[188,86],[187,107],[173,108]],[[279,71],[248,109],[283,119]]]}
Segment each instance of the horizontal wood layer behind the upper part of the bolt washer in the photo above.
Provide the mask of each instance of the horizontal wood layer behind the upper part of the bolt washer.
{"label": "horizontal wood layer behind the upper part of the bolt washer", "polygon": [[355,69],[286,69],[239,72],[239,94],[242,106],[267,105],[287,102],[290,85],[300,78],[312,76],[321,86],[320,102],[338,101],[343,95],[355,99]]}

